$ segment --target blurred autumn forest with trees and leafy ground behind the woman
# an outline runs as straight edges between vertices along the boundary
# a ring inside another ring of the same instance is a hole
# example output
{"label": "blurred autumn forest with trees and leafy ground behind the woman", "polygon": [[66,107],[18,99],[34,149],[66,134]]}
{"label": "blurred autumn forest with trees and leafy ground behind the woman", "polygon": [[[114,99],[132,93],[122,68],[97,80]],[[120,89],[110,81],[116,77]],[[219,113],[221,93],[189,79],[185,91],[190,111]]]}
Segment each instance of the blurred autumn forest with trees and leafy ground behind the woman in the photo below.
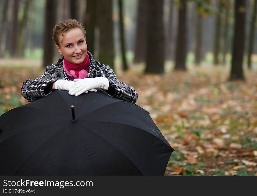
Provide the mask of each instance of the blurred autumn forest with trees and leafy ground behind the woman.
{"label": "blurred autumn forest with trees and leafy ground behind the woman", "polygon": [[139,95],[176,150],[165,175],[257,175],[256,0],[0,0],[0,115],[60,55],[59,21]]}

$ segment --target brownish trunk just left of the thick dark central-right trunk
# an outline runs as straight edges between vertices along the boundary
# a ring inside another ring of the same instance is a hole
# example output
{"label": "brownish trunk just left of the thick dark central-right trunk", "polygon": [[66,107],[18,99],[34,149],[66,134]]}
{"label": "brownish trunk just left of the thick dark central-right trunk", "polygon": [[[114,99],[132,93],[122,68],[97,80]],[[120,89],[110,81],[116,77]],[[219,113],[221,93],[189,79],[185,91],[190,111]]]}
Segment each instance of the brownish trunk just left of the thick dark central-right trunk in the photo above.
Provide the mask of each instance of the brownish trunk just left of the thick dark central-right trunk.
{"label": "brownish trunk just left of the thick dark central-right trunk", "polygon": [[146,58],[146,36],[147,36],[147,18],[148,18],[148,0],[138,1],[136,43],[134,63],[145,62]]}

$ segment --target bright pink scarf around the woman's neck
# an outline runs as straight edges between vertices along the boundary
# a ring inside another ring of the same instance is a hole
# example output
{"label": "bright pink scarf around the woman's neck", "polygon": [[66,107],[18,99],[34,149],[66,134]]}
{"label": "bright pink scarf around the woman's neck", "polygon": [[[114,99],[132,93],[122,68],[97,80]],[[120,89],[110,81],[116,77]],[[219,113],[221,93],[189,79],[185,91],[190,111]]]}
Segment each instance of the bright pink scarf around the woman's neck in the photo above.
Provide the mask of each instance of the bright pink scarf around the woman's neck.
{"label": "bright pink scarf around the woman's neck", "polygon": [[90,59],[88,54],[86,54],[86,58],[80,64],[73,64],[68,62],[65,58],[63,59],[63,68],[70,79],[73,81],[75,78],[86,78],[89,71],[89,63]]}

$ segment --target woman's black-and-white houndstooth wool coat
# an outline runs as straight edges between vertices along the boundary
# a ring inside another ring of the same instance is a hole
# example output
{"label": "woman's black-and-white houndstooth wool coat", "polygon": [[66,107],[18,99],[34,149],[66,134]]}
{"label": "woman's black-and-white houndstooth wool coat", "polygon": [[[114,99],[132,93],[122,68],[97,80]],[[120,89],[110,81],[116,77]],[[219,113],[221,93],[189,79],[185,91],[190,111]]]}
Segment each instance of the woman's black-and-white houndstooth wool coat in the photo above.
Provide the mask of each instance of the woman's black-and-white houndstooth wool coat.
{"label": "woman's black-and-white houndstooth wool coat", "polygon": [[[87,53],[90,59],[88,77],[107,77],[109,80],[109,89],[107,91],[103,90],[105,94],[136,103],[138,99],[136,90],[126,85],[124,82],[120,82],[110,66],[105,66],[95,61],[93,55],[89,51]],[[22,96],[32,102],[53,92],[52,84],[56,80],[70,80],[70,77],[66,74],[62,65],[63,58],[64,57],[61,57],[57,63],[47,66],[46,71],[39,78],[34,80],[28,79],[23,82],[21,85]]]}

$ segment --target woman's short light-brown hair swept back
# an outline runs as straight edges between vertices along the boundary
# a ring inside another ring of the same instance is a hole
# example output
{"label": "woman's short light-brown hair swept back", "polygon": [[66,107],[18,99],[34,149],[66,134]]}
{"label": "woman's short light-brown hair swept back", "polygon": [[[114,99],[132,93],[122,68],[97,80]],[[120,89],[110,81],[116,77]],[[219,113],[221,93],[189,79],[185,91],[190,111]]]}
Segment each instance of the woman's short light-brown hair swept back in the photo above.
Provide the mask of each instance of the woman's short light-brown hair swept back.
{"label": "woman's short light-brown hair swept back", "polygon": [[[60,44],[62,44],[64,33],[70,29],[75,29],[75,28],[81,29],[81,31],[84,34],[84,37],[86,38],[86,30],[84,29],[83,24],[79,23],[79,21],[77,21],[76,19],[73,19],[73,20],[69,19],[56,24],[55,27],[53,28],[53,37],[52,37],[55,44],[60,46]],[[59,40],[58,40],[58,36],[60,34],[62,34],[61,43],[59,43]]]}

